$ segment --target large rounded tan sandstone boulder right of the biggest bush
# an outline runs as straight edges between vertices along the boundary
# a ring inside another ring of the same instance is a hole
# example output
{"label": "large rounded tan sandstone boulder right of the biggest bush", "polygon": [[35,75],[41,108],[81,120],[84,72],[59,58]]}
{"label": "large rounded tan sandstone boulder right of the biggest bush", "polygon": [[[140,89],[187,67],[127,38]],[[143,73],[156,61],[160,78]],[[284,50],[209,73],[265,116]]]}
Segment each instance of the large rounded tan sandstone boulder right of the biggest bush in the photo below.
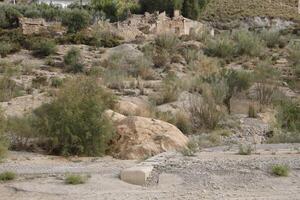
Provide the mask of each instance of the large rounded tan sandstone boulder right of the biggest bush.
{"label": "large rounded tan sandstone boulder right of the biggest bush", "polygon": [[143,159],[168,150],[179,150],[187,142],[188,138],[174,125],[134,116],[118,123],[112,152],[120,159]]}

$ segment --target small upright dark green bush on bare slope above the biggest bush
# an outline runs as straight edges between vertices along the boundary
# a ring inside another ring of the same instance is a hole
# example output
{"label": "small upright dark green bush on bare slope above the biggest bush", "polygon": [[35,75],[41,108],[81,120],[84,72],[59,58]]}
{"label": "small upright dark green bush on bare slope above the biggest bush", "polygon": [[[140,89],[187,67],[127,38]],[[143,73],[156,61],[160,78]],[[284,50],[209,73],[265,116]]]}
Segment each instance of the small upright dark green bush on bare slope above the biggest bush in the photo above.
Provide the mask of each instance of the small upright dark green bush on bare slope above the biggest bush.
{"label": "small upright dark green bush on bare slope above the biggest bush", "polygon": [[64,64],[66,65],[67,72],[80,73],[83,72],[83,64],[81,63],[82,57],[80,49],[71,48],[64,56]]}

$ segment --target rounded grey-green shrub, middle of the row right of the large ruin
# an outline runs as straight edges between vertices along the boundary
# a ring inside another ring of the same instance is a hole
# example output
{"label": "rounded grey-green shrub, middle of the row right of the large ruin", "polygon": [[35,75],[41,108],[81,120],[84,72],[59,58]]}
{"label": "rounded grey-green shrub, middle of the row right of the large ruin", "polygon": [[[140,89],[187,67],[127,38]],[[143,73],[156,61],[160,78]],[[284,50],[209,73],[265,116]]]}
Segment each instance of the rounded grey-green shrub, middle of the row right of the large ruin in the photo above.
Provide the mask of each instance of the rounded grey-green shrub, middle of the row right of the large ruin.
{"label": "rounded grey-green shrub, middle of the row right of the large ruin", "polygon": [[241,30],[234,34],[234,39],[238,55],[260,56],[263,53],[263,41],[255,33]]}

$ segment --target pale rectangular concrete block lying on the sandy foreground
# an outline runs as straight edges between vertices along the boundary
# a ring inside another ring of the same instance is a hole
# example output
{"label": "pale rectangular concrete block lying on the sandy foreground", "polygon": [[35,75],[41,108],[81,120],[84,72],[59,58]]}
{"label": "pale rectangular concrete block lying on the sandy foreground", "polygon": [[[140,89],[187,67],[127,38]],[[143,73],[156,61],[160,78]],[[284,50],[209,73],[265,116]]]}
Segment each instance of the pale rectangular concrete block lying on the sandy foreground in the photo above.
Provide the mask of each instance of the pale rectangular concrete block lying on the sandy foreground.
{"label": "pale rectangular concrete block lying on the sandy foreground", "polygon": [[134,185],[145,185],[153,166],[135,166],[121,172],[121,180]]}

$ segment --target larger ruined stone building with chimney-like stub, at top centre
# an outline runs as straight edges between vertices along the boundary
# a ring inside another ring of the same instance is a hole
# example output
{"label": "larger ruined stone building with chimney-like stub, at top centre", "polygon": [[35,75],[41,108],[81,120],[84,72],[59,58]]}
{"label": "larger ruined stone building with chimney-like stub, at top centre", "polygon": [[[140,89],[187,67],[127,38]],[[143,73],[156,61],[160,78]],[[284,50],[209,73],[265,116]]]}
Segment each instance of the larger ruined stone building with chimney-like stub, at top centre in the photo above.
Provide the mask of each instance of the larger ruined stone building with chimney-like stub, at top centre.
{"label": "larger ruined stone building with chimney-like stub, at top centre", "polygon": [[192,31],[199,31],[204,27],[201,22],[183,17],[178,10],[174,12],[173,18],[168,17],[165,12],[145,13],[144,15],[132,15],[127,20],[114,25],[118,34],[125,40],[162,33],[173,33],[178,36],[189,35]]}

